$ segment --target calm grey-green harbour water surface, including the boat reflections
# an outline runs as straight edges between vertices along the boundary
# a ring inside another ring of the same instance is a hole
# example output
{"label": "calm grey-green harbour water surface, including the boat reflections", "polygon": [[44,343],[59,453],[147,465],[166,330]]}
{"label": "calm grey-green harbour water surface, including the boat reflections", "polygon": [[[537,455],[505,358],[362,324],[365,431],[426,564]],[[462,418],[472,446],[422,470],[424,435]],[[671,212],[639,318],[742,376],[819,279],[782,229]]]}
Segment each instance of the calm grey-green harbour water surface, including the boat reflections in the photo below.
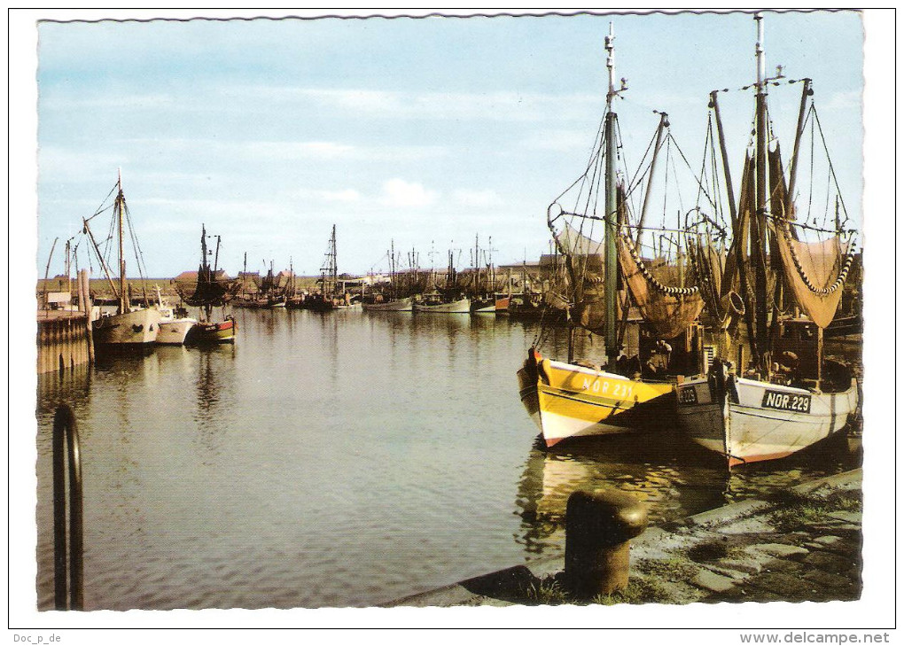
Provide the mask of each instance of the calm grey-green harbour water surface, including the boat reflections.
{"label": "calm grey-green harbour water surface, including the boat reflections", "polygon": [[[669,427],[545,453],[514,376],[533,323],[235,314],[234,346],[162,347],[40,381],[42,609],[61,402],[79,421],[89,610],[381,604],[560,553],[580,487],[637,492],[656,523],[859,457],[842,437],[728,476]],[[565,342],[554,335],[549,353]]]}

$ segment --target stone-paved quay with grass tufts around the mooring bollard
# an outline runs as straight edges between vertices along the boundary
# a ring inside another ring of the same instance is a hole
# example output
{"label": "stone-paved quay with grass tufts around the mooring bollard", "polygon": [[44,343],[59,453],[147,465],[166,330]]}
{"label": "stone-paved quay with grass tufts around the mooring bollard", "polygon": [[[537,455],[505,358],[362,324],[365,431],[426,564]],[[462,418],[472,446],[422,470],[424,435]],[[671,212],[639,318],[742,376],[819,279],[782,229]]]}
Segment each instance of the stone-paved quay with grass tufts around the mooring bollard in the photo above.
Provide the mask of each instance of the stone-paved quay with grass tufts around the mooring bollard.
{"label": "stone-paved quay with grass tufts around the mooring bollard", "polygon": [[862,469],[647,529],[624,590],[571,598],[564,555],[386,606],[852,601],[862,591]]}

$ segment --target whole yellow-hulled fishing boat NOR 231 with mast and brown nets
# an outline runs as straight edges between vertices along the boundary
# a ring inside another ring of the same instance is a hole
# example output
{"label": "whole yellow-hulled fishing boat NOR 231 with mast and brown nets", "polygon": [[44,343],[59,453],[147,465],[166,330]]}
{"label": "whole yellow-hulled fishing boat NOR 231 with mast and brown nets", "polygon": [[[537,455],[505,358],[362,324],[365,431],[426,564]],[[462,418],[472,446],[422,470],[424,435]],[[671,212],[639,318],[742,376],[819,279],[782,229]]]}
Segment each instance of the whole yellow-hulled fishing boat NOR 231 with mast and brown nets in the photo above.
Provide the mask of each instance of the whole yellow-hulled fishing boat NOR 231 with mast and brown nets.
{"label": "whole yellow-hulled fishing boat NOR 231 with mast and brown nets", "polygon": [[[665,340],[686,333],[702,310],[702,298],[695,286],[664,285],[662,281],[667,278],[657,275],[655,267],[645,267],[635,244],[626,246],[622,239],[627,237],[626,196],[632,187],[625,186],[616,167],[621,143],[613,99],[625,91],[626,83],[622,80],[620,89],[616,88],[614,40],[610,26],[606,38],[606,113],[591,162],[547,211],[547,223],[562,258],[564,280],[546,290],[542,297],[547,308],[567,317],[568,360],[541,355],[541,332],[518,371],[523,405],[540,427],[548,447],[571,437],[623,433],[673,418],[674,378],[666,369],[674,357]],[[662,147],[664,128],[668,126],[664,117],[657,130],[656,150]],[[655,159],[651,166],[654,164]],[[563,208],[560,201],[572,197],[574,205]],[[649,201],[647,194],[645,204]],[[642,221],[643,216],[636,227],[638,240]],[[601,241],[594,239],[595,232]],[[683,272],[677,274],[683,277]],[[634,308],[631,299],[636,304]],[[642,356],[640,332],[636,332],[637,355],[626,356],[626,330],[632,310],[636,313],[636,331],[641,323],[648,325],[648,346],[660,343],[669,348],[663,352],[661,371],[651,370],[649,351]],[[603,343],[594,344],[594,335]],[[576,360],[578,342],[584,342],[583,350],[589,352]],[[598,358],[600,363],[592,357],[595,347],[605,352],[605,358]],[[681,358],[685,359],[686,354]]]}

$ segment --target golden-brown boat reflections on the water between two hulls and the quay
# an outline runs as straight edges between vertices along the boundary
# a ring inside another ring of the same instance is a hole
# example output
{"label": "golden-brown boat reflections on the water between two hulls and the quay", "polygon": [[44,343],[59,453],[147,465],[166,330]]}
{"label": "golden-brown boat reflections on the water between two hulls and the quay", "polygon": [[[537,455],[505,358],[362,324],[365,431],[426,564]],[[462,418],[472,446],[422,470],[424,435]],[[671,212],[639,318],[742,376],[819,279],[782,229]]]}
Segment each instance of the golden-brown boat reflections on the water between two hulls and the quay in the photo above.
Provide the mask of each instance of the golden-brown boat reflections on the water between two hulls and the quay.
{"label": "golden-brown boat reflections on the water between two hulls and the quay", "polygon": [[614,487],[644,501],[651,525],[762,498],[800,482],[860,466],[845,434],[784,460],[729,472],[714,454],[677,431],[574,440],[543,449],[538,437],[524,464],[515,499],[526,552],[547,555],[565,545],[565,510],[578,490]]}

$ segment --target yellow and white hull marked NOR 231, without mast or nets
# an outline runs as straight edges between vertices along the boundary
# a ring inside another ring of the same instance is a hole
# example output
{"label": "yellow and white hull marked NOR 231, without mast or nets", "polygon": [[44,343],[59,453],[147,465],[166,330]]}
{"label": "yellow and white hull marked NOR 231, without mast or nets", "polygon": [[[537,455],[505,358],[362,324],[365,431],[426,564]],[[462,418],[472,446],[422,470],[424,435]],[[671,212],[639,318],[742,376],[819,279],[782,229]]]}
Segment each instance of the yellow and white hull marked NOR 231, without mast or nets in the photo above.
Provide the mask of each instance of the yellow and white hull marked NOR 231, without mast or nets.
{"label": "yellow and white hull marked NOR 231, without mast or nets", "polygon": [[547,447],[570,437],[637,430],[673,411],[673,386],[529,357],[518,371],[521,400]]}

